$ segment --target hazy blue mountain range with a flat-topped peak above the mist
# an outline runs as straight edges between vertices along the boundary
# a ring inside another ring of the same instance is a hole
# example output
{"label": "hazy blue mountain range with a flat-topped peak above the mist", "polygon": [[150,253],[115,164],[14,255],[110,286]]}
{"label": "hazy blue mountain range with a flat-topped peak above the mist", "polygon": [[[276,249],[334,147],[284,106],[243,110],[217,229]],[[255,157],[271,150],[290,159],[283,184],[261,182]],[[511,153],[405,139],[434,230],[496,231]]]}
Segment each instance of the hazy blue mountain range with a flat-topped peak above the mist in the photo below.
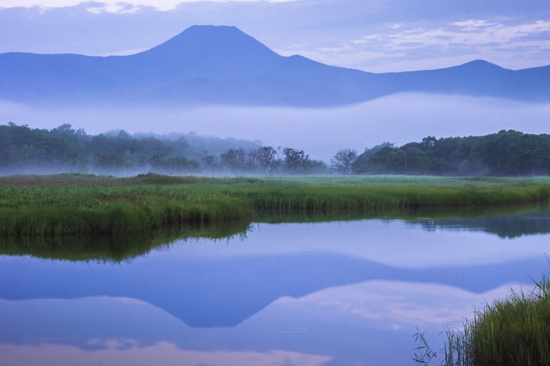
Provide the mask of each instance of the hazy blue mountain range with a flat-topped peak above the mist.
{"label": "hazy blue mountain range with a flat-topped peak above the mist", "polygon": [[0,54],[0,99],[26,103],[171,103],[328,107],[398,92],[550,101],[550,66],[483,60],[373,74],[283,57],[231,26],[191,26],[130,56]]}

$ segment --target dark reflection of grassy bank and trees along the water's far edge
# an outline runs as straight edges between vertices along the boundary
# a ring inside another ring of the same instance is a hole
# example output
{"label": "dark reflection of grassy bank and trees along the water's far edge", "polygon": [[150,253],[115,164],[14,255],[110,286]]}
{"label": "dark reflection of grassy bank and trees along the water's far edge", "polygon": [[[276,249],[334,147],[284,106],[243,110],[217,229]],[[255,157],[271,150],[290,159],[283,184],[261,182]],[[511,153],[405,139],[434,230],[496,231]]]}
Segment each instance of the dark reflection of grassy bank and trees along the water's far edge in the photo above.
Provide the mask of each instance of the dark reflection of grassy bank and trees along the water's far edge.
{"label": "dark reflection of grassy bank and trees along the water's far edge", "polygon": [[[400,220],[427,231],[486,232],[513,239],[524,235],[550,233],[550,209],[547,203],[510,207],[463,207],[445,209],[390,209],[381,211],[350,211],[337,213],[291,212],[264,213],[257,223],[233,221],[211,225],[185,225],[172,230],[119,237],[0,237],[0,255],[32,256],[60,260],[96,260],[121,262],[149,253],[154,248],[168,248],[182,241],[201,239],[244,241],[262,224],[344,223],[359,220]],[[341,234],[339,232],[338,234]],[[298,237],[301,240],[300,237]],[[293,243],[294,245],[294,243]],[[303,247],[298,245],[298,247]]]}

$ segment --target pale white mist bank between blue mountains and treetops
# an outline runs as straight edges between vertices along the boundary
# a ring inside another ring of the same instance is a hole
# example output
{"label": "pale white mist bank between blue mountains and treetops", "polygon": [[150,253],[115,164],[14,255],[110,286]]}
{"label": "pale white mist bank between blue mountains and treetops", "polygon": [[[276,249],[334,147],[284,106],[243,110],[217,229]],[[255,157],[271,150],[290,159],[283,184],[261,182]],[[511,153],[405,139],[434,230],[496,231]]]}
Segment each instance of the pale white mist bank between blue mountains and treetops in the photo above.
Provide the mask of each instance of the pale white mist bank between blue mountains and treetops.
{"label": "pale white mist bank between blue mountains and treetops", "polygon": [[199,135],[296,146],[328,161],[342,148],[363,151],[382,141],[402,145],[425,136],[485,135],[515,129],[548,132],[550,104],[418,93],[392,95],[338,108],[167,105],[30,106],[0,101],[0,122],[53,128],[63,123],[98,134],[113,127],[135,132],[195,131]]}

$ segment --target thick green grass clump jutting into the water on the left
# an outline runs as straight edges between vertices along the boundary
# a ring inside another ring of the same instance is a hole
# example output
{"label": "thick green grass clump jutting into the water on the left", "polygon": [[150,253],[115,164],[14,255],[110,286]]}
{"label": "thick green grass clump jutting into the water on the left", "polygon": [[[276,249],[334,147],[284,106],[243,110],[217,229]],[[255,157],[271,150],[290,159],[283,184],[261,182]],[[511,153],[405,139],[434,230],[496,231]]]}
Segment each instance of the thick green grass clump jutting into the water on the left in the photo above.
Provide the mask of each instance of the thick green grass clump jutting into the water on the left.
{"label": "thick green grass clump jutting into the water on the left", "polygon": [[121,235],[252,216],[237,197],[183,187],[0,187],[0,235]]}

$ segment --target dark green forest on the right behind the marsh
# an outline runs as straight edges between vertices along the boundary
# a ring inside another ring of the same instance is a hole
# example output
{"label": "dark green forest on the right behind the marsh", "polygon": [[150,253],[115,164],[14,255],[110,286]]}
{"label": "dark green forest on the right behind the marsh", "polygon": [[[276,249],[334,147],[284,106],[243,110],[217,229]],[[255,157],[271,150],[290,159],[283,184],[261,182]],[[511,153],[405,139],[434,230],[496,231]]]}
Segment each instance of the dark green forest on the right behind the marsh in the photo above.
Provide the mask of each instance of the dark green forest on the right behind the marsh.
{"label": "dark green forest on the right behind the marsh", "polygon": [[550,174],[550,135],[508,130],[485,136],[428,136],[401,147],[382,143],[360,154],[355,174],[532,176]]}

